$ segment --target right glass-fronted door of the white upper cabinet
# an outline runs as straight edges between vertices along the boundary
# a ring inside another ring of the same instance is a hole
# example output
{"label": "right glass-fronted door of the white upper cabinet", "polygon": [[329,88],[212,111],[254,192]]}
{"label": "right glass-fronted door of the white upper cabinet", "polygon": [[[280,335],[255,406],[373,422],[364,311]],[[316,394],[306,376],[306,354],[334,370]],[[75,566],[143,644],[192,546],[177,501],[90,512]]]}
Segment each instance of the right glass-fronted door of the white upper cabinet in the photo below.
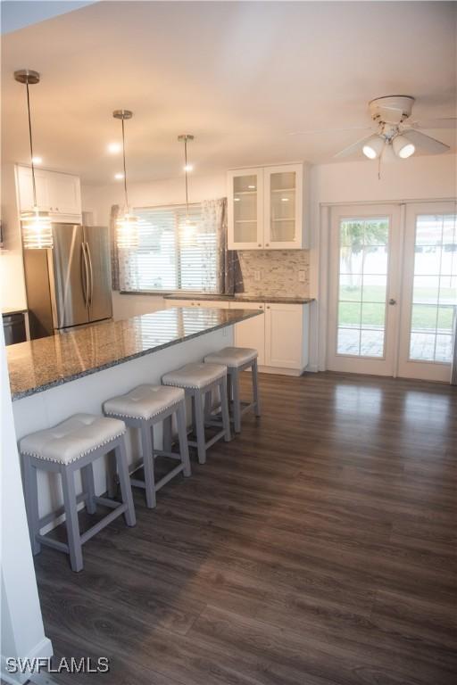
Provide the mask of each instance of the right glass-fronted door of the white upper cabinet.
{"label": "right glass-fronted door of the white upper cabinet", "polygon": [[303,166],[264,169],[265,249],[303,247]]}

